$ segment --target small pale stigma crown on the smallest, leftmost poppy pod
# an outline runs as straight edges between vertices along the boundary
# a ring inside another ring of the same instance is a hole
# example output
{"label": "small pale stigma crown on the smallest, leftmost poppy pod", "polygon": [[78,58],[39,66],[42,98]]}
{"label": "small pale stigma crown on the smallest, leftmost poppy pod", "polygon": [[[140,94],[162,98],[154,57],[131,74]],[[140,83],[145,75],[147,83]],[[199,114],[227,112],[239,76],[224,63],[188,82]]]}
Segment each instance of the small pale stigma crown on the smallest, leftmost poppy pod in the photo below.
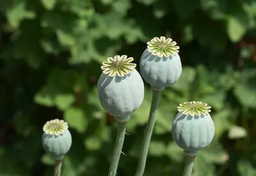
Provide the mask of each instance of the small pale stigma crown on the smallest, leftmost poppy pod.
{"label": "small pale stigma crown on the smallest, leftmost poppy pod", "polygon": [[68,129],[67,122],[64,122],[63,120],[54,119],[51,121],[46,122],[44,125],[44,132],[47,135],[61,135],[65,133]]}

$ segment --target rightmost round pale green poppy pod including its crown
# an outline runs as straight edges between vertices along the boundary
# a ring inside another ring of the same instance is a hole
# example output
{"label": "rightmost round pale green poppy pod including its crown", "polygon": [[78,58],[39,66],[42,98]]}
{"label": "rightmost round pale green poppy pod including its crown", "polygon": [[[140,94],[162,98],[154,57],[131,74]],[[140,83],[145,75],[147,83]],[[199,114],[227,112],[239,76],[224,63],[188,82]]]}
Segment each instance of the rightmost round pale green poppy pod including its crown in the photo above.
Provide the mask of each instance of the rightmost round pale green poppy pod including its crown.
{"label": "rightmost round pale green poppy pod including its crown", "polygon": [[173,140],[180,148],[189,151],[203,149],[212,142],[214,122],[209,112],[211,106],[202,102],[185,102],[178,106],[173,126]]}

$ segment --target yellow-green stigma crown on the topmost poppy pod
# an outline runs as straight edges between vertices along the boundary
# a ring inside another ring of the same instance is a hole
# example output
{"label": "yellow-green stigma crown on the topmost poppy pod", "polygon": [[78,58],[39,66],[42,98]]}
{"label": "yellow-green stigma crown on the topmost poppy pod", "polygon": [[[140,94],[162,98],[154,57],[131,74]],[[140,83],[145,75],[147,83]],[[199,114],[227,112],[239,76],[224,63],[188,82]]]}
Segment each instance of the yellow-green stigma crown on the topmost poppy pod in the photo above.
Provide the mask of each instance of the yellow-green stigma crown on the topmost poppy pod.
{"label": "yellow-green stigma crown on the topmost poppy pod", "polygon": [[165,38],[161,36],[160,38],[153,38],[147,42],[148,51],[153,55],[158,57],[169,57],[170,55],[175,55],[179,52],[179,48],[175,41],[172,41],[172,38]]}

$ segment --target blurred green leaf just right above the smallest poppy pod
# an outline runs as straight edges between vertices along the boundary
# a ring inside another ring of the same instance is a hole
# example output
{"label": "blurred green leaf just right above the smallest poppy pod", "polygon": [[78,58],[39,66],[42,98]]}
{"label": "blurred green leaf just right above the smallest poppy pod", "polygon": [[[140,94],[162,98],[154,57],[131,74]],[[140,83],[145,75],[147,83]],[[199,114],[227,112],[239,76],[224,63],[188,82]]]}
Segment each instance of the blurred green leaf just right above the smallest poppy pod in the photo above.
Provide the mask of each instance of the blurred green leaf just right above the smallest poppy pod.
{"label": "blurred green leaf just right above the smallest poppy pod", "polygon": [[76,129],[79,133],[84,133],[88,122],[81,108],[69,108],[64,112],[64,119],[70,128]]}

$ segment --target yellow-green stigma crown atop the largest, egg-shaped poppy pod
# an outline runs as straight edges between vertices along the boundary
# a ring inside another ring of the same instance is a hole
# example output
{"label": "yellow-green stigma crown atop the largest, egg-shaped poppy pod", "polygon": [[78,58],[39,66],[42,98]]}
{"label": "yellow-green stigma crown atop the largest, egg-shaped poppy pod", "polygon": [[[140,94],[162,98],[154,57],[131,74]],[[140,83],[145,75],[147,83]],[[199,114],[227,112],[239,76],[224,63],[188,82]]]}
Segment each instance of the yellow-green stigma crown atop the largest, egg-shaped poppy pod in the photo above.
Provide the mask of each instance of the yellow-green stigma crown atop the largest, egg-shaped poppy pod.
{"label": "yellow-green stigma crown atop the largest, egg-shaped poppy pod", "polygon": [[132,57],[127,58],[127,55],[116,55],[114,58],[108,57],[108,61],[104,61],[100,68],[103,73],[109,74],[110,77],[115,77],[115,75],[124,77],[136,67],[136,64],[131,63],[133,60]]}

